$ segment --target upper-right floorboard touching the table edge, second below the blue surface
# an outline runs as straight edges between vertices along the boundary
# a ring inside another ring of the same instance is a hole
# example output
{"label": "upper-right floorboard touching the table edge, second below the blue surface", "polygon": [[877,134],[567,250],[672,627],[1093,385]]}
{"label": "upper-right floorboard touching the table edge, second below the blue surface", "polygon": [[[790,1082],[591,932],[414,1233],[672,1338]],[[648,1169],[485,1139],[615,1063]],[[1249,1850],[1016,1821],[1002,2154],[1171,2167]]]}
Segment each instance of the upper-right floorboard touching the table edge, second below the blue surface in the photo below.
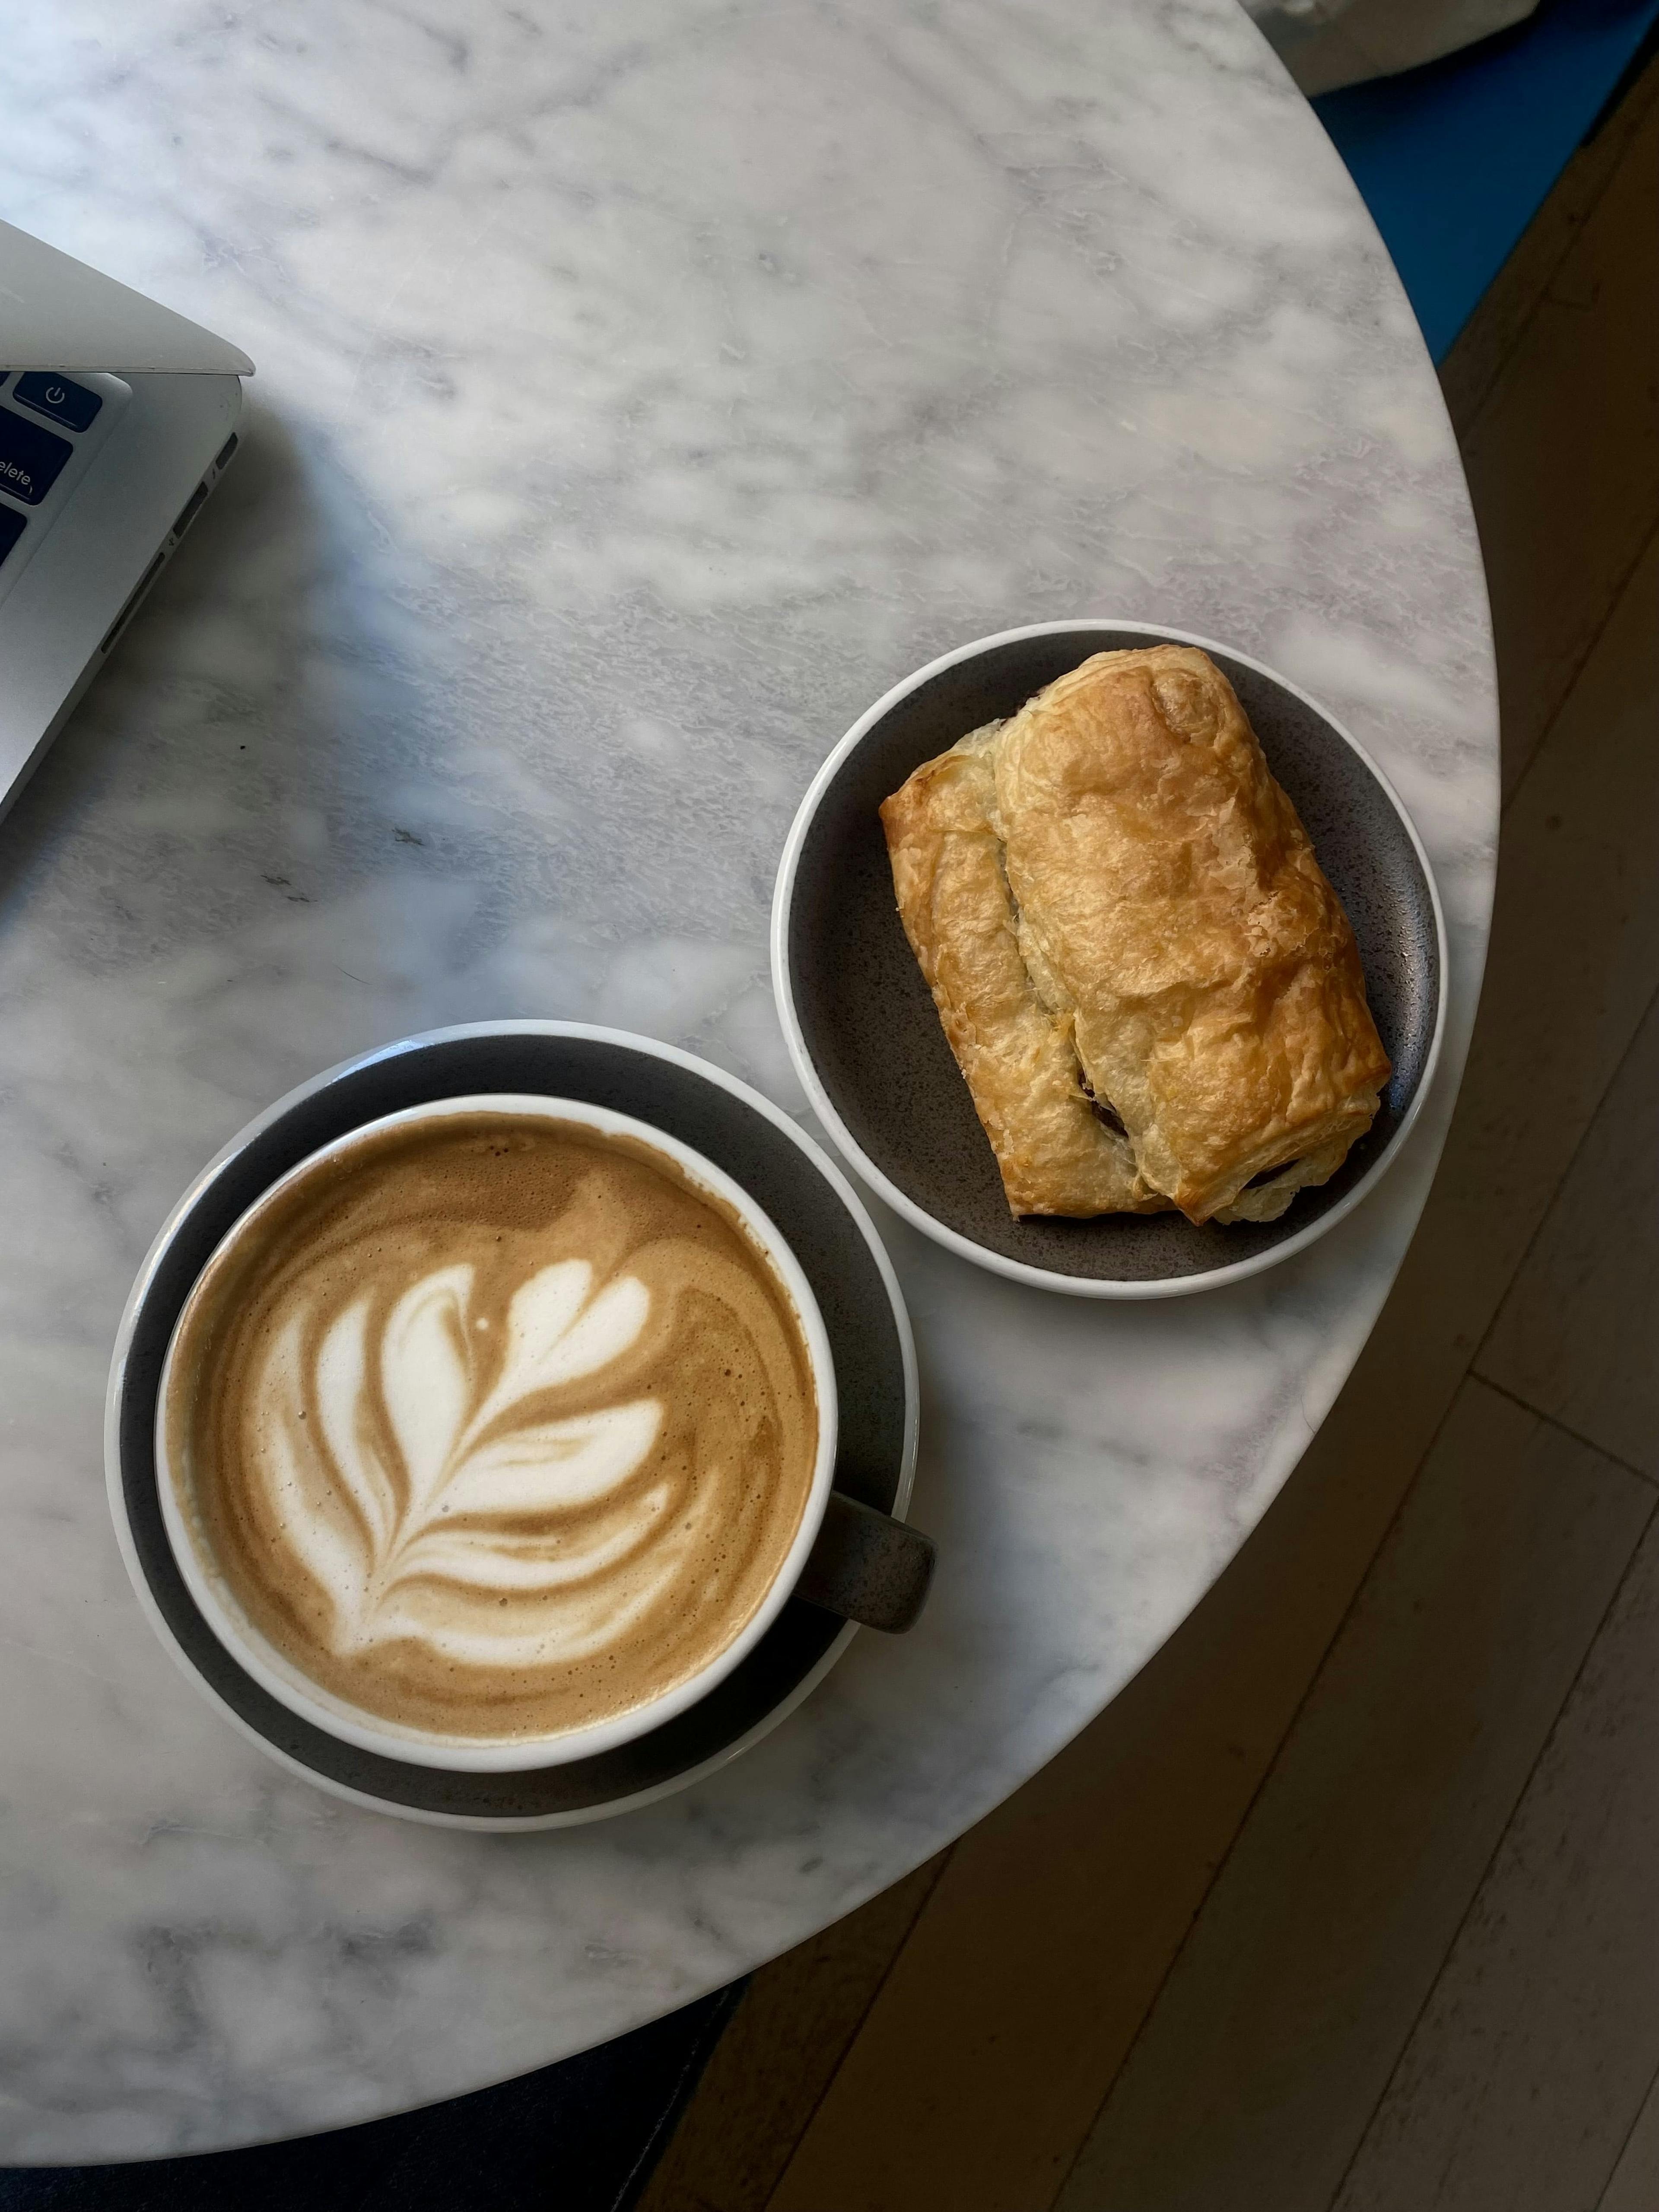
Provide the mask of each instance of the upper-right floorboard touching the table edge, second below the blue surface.
{"label": "upper-right floorboard touching the table edge, second below the blue surface", "polygon": [[1659,509],[1659,102],[1462,438],[1513,790]]}

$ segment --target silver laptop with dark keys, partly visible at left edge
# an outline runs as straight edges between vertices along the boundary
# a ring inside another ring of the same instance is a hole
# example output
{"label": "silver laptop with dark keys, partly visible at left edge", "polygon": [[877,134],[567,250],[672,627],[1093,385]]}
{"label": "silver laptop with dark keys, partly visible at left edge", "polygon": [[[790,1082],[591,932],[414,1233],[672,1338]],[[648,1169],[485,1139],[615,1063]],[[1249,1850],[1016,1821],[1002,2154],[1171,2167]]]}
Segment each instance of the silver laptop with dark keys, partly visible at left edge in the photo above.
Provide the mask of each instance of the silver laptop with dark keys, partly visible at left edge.
{"label": "silver laptop with dark keys, partly visible at left edge", "polygon": [[252,374],[0,223],[0,814],[230,467]]}

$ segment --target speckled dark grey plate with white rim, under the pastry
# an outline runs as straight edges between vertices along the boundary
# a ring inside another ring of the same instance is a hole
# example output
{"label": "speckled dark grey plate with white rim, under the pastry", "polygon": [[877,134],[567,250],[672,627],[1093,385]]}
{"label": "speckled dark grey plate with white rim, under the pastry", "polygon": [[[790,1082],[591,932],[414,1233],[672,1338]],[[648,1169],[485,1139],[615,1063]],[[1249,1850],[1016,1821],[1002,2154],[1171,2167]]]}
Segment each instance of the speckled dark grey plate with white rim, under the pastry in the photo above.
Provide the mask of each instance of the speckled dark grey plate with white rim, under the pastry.
{"label": "speckled dark grey plate with white rim, under the pastry", "polygon": [[[984,721],[1015,714],[1091,653],[1161,639],[1225,670],[1274,776],[1347,907],[1394,1075],[1369,1133],[1279,1221],[1181,1214],[1015,1221],[967,1084],[894,905],[876,807]],[[960,646],[852,726],[790,830],[772,902],[772,982],[801,1082],[830,1135],[900,1214],[964,1259],[1084,1298],[1170,1298],[1301,1252],[1376,1186],[1440,1053],[1447,936],[1429,858],[1376,763],[1307,692],[1186,630],[1048,622]]]}

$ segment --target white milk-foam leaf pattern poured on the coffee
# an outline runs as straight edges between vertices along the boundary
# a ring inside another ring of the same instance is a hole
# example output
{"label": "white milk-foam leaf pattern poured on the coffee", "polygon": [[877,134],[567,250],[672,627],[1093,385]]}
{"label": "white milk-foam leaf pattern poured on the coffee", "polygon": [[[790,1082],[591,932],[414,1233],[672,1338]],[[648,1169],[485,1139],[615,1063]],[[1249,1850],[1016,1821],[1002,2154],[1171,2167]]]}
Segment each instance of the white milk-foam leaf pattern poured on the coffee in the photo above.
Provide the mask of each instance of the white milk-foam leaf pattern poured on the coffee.
{"label": "white milk-foam leaf pattern poured on the coffee", "polygon": [[[265,1385],[283,1400],[272,1422],[272,1489],[299,1498],[301,1460],[327,1455],[347,1513],[283,1515],[285,1533],[334,1604],[341,1652],[407,1635],[429,1635],[400,1604],[418,1579],[462,1586],[478,1604],[467,1655],[524,1641],[518,1615],[491,1628],[491,1595],[549,1593],[604,1571],[637,1537],[593,1528],[586,1542],[551,1540],[549,1517],[593,1506],[646,1462],[659,1427],[655,1398],[635,1398],[535,1420],[531,1400],[557,1385],[602,1374],[639,1338],[650,1294],[635,1276],[593,1292],[593,1267],[568,1259],[542,1267],[513,1294],[493,1380],[473,1314],[471,1265],[440,1267],[392,1305],[378,1336],[372,1301],[358,1298],[323,1329],[305,1356],[303,1316],[272,1347]],[[307,1374],[310,1367],[310,1374]],[[305,1418],[314,1413],[314,1429]],[[650,1513],[653,1500],[637,1509]],[[445,1639],[453,1641],[453,1639]],[[500,1657],[511,1657],[502,1650]]]}

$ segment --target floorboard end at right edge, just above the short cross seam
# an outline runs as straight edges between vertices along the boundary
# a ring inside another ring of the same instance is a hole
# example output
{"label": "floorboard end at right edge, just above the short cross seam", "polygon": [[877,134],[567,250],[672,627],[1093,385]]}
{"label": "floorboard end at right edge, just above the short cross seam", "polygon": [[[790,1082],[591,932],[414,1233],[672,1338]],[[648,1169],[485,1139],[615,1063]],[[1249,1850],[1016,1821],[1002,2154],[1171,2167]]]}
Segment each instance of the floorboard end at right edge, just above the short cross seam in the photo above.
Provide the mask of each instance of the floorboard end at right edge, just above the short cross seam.
{"label": "floorboard end at right edge, just above the short cross seam", "polygon": [[[1659,692],[1652,706],[1659,750]],[[1655,849],[1659,852],[1659,821]],[[1659,998],[1630,1046],[1480,1374],[1659,1475]]]}

